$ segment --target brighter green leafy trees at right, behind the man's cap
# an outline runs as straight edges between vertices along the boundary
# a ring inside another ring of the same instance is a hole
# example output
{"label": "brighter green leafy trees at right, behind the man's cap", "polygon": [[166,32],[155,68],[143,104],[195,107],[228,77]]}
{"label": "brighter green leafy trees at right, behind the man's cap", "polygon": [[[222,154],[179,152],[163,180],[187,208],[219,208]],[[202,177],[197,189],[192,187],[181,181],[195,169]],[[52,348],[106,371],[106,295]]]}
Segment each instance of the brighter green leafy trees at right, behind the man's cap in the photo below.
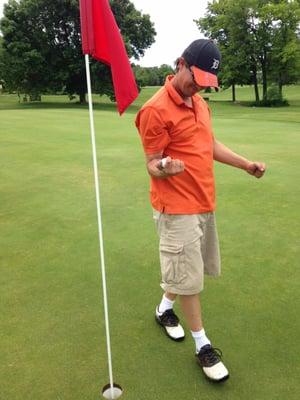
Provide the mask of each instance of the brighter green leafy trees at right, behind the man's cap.
{"label": "brighter green leafy trees at right, behind the man's cap", "polygon": [[297,79],[298,0],[215,0],[196,22],[220,45],[225,87],[253,83],[258,102],[260,77],[264,99],[269,80],[276,81],[281,91],[283,84]]}

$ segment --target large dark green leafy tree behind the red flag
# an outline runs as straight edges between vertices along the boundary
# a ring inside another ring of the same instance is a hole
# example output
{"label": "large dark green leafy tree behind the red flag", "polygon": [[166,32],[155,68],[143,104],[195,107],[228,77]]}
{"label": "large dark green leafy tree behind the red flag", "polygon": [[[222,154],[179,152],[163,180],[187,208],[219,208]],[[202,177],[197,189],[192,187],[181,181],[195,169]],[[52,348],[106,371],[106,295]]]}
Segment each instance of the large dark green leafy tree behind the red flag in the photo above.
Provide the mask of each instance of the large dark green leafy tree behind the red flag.
{"label": "large dark green leafy tree behind the red flag", "polygon": [[[138,59],[154,41],[150,17],[129,0],[113,0],[111,6],[129,55]],[[9,0],[0,27],[7,87],[30,95],[64,91],[85,101],[79,0]],[[110,69],[94,60],[91,68],[93,90],[114,99]]]}

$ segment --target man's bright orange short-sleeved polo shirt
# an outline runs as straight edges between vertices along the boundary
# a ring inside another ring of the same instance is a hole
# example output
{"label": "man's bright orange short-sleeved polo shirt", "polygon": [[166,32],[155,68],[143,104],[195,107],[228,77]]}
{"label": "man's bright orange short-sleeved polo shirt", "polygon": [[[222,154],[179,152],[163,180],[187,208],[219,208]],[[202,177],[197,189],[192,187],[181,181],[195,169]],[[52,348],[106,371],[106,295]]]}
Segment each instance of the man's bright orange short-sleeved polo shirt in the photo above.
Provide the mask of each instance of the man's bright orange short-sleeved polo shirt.
{"label": "man's bright orange short-sleeved polo shirt", "polygon": [[188,107],[171,84],[165,85],[136,117],[144,151],[184,162],[184,171],[166,179],[151,177],[153,208],[167,214],[199,214],[215,209],[213,133],[210,110],[198,95]]}

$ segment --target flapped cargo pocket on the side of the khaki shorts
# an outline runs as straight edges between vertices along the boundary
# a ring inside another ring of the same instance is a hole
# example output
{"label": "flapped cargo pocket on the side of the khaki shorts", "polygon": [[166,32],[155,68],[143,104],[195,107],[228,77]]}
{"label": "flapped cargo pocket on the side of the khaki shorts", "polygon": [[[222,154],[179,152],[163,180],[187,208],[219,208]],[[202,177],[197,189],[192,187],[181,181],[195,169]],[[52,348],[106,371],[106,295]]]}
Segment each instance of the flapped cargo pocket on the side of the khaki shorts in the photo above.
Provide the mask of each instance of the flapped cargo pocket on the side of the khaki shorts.
{"label": "flapped cargo pocket on the side of the khaki shorts", "polygon": [[162,281],[166,284],[180,284],[186,278],[184,246],[164,240],[159,244]]}

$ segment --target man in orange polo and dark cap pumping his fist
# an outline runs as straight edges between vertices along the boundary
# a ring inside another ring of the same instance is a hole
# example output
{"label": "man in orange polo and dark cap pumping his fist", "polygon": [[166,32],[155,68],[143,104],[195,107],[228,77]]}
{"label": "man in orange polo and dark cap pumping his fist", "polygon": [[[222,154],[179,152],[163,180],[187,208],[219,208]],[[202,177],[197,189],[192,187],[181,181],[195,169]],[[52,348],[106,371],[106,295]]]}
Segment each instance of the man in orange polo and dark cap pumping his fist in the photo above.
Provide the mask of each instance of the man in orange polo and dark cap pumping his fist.
{"label": "man in orange polo and dark cap pumping his fist", "polygon": [[264,163],[249,161],[214,138],[210,110],[196,94],[218,87],[220,61],[213,41],[192,42],[176,62],[176,74],[167,77],[136,118],[160,237],[164,295],[156,308],[156,321],[171,339],[184,339],[173,311],[178,296],[195,340],[196,360],[213,381],[229,377],[221,352],[206,336],[199,299],[204,273],[220,274],[213,161],[244,169],[256,178],[265,172]]}

